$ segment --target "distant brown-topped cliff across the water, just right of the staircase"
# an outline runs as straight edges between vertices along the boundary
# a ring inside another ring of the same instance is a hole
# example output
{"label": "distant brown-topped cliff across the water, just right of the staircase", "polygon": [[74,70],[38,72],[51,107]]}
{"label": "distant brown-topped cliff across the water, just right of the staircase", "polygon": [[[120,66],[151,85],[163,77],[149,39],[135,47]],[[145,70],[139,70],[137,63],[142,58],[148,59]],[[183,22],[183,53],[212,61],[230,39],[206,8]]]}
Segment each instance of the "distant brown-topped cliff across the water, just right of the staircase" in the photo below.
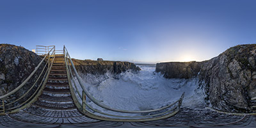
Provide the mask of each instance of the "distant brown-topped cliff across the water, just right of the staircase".
{"label": "distant brown-topped cliff across the water, just right of the staircase", "polygon": [[81,74],[103,75],[106,72],[120,74],[127,70],[132,70],[132,72],[138,72],[140,70],[134,63],[126,61],[93,61],[76,59],[72,59],[72,61],[74,62],[77,72]]}

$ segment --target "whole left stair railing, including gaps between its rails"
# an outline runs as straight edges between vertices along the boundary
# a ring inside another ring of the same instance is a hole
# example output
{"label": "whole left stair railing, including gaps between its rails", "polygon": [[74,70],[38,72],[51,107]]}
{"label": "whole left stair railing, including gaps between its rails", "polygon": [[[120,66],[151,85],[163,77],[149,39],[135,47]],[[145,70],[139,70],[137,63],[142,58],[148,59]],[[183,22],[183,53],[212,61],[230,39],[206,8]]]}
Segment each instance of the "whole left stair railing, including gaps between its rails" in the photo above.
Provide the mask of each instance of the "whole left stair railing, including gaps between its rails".
{"label": "whole left stair railing, including gaps between its rails", "polygon": [[44,55],[35,70],[17,88],[0,96],[0,115],[15,113],[20,109],[24,109],[35,102],[37,97],[41,95],[55,58],[55,47],[53,46]]}

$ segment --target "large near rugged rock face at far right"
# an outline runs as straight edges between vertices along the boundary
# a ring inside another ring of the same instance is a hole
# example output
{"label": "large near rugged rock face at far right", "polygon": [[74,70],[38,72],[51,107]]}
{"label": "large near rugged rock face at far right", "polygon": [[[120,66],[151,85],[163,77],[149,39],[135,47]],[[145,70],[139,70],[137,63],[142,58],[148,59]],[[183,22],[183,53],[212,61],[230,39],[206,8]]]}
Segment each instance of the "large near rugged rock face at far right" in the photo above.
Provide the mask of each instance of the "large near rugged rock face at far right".
{"label": "large near rugged rock face at far right", "polygon": [[237,45],[206,61],[199,74],[213,108],[252,112],[256,97],[256,44]]}

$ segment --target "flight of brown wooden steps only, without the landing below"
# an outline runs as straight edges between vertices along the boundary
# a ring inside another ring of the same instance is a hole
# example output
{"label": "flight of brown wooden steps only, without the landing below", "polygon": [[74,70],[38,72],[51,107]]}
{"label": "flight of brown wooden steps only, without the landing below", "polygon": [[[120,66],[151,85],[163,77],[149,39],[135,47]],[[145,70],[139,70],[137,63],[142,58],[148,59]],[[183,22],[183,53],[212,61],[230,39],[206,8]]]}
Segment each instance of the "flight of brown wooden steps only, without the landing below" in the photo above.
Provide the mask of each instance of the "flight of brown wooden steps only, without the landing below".
{"label": "flight of brown wooden steps only, without the landing below", "polygon": [[64,55],[56,55],[42,95],[34,103],[45,109],[76,109],[70,95]]}

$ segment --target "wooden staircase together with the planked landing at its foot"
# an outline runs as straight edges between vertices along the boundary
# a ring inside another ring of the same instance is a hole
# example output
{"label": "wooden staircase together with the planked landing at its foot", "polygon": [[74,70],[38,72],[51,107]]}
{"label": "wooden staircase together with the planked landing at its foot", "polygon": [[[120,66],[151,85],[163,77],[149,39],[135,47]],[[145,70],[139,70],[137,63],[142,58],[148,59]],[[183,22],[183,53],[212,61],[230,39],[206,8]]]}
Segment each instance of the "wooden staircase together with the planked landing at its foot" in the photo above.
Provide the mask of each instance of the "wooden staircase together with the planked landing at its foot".
{"label": "wooden staircase together with the planked landing at its foot", "polygon": [[29,108],[10,115],[22,122],[38,124],[92,124],[99,122],[82,115],[76,108],[68,85],[63,54],[55,55],[42,94]]}

